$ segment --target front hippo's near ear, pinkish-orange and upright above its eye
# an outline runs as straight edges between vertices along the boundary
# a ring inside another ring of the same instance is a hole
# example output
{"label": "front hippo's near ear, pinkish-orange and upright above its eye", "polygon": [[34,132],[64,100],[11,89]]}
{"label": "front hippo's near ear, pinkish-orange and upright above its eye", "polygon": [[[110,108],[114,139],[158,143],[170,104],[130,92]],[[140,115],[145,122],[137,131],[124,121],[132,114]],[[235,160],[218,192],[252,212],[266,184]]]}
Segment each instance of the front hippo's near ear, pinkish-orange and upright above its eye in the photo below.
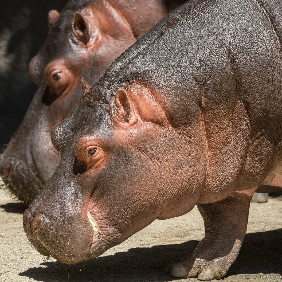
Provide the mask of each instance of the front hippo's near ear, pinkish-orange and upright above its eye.
{"label": "front hippo's near ear, pinkish-orange and upright above its eye", "polygon": [[115,115],[120,122],[127,122],[129,120],[130,102],[127,93],[124,89],[116,91]]}

